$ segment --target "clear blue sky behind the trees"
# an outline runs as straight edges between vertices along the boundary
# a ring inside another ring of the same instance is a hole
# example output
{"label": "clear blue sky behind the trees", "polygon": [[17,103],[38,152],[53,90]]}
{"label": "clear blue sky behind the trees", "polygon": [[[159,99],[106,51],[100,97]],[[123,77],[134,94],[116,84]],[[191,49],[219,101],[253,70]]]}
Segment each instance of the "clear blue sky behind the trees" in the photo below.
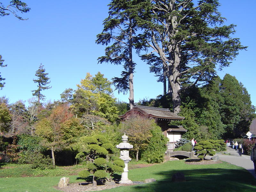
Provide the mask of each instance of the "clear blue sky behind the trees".
{"label": "clear blue sky behind the trees", "polygon": [[[40,63],[51,79],[51,89],[43,94],[47,100],[59,100],[66,88],[76,89],[81,79],[89,72],[93,76],[100,71],[109,80],[119,76],[122,66],[97,64],[97,58],[104,55],[105,47],[95,44],[96,35],[102,31],[102,21],[108,16],[108,0],[23,0],[31,8],[29,13],[20,14],[28,20],[21,21],[14,16],[0,18],[1,47],[4,64],[1,76],[6,78],[0,96],[9,98],[10,103],[28,100],[32,97],[35,72]],[[7,5],[9,1],[2,0]],[[254,57],[256,5],[251,0],[220,0],[219,11],[227,18],[226,24],[237,25],[234,37],[240,38],[241,51],[230,67],[218,71],[220,78],[226,73],[242,82],[256,106]],[[250,5],[250,6],[248,6]],[[149,73],[148,66],[134,57],[137,63],[134,74],[135,102],[143,98],[155,98],[162,94],[162,83]],[[114,88],[114,87],[113,87]],[[115,91],[114,96],[128,102],[129,95]]]}

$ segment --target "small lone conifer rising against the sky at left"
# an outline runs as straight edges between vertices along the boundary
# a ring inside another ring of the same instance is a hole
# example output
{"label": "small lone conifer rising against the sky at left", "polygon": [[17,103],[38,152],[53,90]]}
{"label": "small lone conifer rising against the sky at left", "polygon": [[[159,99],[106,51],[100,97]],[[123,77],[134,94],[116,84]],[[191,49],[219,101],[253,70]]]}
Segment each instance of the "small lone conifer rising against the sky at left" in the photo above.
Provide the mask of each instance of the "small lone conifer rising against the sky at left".
{"label": "small lone conifer rising against the sky at left", "polygon": [[45,73],[45,69],[43,67],[44,66],[41,63],[38,70],[36,71],[35,76],[37,76],[37,79],[33,79],[33,81],[38,84],[38,89],[33,90],[32,92],[34,93],[32,95],[37,97],[38,103],[40,103],[40,100],[44,100],[45,96],[42,94],[42,91],[52,88],[50,86],[46,86],[47,84],[51,83],[51,81],[49,81],[50,78],[47,76],[48,73]]}

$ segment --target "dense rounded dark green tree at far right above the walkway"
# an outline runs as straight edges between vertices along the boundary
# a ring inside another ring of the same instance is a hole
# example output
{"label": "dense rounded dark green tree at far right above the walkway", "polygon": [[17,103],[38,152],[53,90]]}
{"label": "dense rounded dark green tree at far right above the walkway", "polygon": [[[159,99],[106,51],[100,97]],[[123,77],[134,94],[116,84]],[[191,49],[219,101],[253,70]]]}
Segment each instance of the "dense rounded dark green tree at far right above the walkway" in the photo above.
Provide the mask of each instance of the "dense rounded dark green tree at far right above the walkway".
{"label": "dense rounded dark green tree at far right above the walkway", "polygon": [[227,126],[226,137],[238,137],[247,132],[254,117],[255,107],[252,105],[250,95],[243,84],[235,76],[226,74],[220,85],[221,117]]}

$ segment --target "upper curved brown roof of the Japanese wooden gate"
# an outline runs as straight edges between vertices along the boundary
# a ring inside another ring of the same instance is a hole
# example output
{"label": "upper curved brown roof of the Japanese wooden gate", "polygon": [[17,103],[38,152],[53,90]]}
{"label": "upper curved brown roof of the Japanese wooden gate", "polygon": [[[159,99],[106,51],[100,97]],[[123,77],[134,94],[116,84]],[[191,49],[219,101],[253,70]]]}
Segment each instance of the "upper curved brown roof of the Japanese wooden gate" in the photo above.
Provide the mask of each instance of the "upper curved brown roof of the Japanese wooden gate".
{"label": "upper curved brown roof of the Japanese wooden gate", "polygon": [[127,111],[124,115],[120,115],[121,119],[126,119],[127,116],[131,114],[140,113],[145,116],[149,116],[151,118],[157,120],[183,120],[185,117],[178,116],[172,113],[168,108],[156,108],[156,107],[146,107],[141,105],[134,105],[132,109]]}

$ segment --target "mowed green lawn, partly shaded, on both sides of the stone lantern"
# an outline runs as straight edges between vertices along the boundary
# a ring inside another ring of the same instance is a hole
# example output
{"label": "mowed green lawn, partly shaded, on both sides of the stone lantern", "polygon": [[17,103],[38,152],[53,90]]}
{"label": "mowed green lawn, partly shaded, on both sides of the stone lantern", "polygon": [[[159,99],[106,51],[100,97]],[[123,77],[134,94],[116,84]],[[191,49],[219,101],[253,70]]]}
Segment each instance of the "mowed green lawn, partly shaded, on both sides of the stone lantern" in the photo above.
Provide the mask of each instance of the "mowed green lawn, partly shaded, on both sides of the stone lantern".
{"label": "mowed green lawn, partly shaded, on both sides of the stone lantern", "polygon": [[[183,172],[186,182],[172,182],[172,175]],[[77,176],[68,176],[70,182],[83,182]],[[121,176],[115,174],[116,178]],[[161,191],[256,191],[256,180],[244,168],[226,162],[210,165],[190,165],[184,160],[168,161],[150,167],[129,170],[128,177],[133,181],[143,181],[154,178],[156,182],[142,185],[117,187],[103,192],[161,192]],[[23,177],[0,178],[0,191],[2,192],[57,192],[61,177]]]}

